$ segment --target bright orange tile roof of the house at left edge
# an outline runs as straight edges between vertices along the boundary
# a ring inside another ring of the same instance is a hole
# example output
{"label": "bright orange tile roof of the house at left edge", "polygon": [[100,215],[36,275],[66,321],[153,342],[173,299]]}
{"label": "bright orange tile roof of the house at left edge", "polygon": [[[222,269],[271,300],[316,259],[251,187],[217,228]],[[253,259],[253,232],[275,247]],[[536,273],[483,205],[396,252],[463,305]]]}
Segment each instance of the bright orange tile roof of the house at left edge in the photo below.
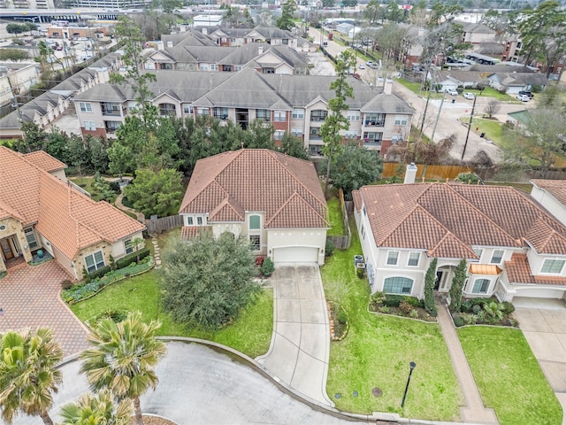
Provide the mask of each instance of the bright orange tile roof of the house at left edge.
{"label": "bright orange tile roof of the house at left edge", "polygon": [[145,228],[49,174],[46,169],[57,160],[47,157],[46,153],[21,155],[0,146],[0,210],[13,212],[23,226],[34,224],[68,259],[93,243],[114,243]]}

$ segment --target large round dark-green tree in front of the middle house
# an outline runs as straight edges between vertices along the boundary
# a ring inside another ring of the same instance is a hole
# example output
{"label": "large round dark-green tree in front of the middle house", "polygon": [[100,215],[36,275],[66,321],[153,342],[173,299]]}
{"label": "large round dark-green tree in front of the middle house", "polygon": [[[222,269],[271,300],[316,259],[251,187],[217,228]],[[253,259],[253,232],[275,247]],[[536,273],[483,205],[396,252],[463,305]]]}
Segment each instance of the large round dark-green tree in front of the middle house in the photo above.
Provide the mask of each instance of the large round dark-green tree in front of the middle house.
{"label": "large round dark-green tree in front of the middle house", "polygon": [[247,239],[202,231],[164,252],[164,309],[175,321],[220,328],[238,317],[259,290]]}

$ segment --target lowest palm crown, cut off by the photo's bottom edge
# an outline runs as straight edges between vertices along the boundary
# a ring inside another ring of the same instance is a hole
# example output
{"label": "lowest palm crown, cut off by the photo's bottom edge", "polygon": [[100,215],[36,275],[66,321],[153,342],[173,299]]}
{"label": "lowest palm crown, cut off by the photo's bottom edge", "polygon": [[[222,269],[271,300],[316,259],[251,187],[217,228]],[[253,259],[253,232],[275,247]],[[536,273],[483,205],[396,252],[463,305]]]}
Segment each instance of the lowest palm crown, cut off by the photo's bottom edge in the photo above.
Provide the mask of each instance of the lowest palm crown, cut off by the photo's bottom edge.
{"label": "lowest palm crown, cut off by the photo's bottom edge", "polygon": [[96,395],[84,394],[79,401],[61,407],[61,425],[130,425],[134,415],[132,400],[125,399],[114,405],[112,393],[100,390]]}

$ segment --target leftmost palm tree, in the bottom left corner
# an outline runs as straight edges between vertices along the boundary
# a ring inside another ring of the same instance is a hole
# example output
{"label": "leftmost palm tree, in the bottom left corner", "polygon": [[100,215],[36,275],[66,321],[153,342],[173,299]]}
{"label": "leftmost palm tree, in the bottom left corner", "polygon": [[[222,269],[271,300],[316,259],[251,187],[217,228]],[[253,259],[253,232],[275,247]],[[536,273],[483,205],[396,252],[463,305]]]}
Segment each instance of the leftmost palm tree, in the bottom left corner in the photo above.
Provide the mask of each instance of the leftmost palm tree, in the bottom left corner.
{"label": "leftmost palm tree, in the bottom left corner", "polygon": [[48,328],[8,331],[0,335],[0,407],[8,424],[19,412],[41,416],[53,425],[49,410],[53,393],[63,381],[57,364],[63,350]]}

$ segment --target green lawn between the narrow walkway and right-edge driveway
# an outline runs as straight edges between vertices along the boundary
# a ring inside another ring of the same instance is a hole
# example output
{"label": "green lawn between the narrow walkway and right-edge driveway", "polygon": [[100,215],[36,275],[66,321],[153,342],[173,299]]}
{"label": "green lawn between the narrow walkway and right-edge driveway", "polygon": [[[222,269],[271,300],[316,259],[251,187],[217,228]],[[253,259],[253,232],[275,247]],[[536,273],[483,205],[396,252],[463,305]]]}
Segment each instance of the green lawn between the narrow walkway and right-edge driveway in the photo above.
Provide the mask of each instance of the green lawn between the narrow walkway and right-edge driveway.
{"label": "green lawn between the narrow walkway and right-edge driveway", "polygon": [[501,425],[562,424],[562,407],[519,329],[458,329],[484,404]]}

